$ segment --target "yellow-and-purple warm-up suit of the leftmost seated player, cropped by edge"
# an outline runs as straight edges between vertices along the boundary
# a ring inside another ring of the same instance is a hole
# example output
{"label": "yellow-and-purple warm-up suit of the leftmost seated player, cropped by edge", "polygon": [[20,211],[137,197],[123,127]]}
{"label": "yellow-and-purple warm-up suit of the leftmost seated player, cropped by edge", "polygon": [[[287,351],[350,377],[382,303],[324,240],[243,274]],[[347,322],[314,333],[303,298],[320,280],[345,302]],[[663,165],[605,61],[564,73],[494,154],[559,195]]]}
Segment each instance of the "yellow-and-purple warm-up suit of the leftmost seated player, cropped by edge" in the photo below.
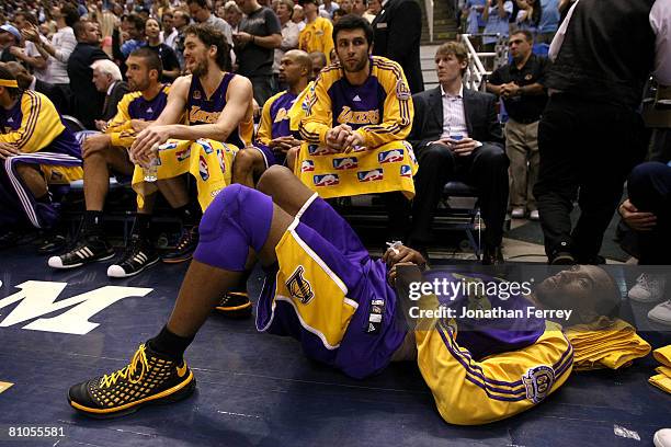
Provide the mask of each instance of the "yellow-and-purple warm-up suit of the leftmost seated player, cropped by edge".
{"label": "yellow-and-purple warm-up suit of the leftmost seated player, cropped by edge", "polygon": [[25,90],[10,110],[0,107],[0,142],[21,154],[2,160],[0,168],[0,228],[27,219],[36,228],[48,228],[58,218],[57,204],[35,200],[16,172],[18,163],[39,165],[48,184],[69,184],[83,176],[81,148],[65,127],[52,101]]}

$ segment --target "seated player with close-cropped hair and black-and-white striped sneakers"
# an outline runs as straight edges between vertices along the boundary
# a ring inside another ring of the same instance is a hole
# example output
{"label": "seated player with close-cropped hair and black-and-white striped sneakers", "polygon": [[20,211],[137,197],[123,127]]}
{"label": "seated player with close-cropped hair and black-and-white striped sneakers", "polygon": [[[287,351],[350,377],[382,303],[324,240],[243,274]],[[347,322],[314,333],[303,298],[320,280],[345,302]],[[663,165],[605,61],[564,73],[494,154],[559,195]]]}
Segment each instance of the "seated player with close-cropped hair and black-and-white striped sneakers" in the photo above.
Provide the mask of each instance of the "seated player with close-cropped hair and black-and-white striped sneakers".
{"label": "seated player with close-cropped hair and black-and-white striped sneakers", "polygon": [[[87,210],[80,232],[72,250],[48,260],[52,268],[73,268],[114,256],[114,249],[107,242],[103,227],[110,173],[133,174],[134,165],[127,149],[133,144],[135,134],[160,115],[169,93],[169,87],[160,82],[161,61],[152,50],[135,49],[128,56],[126,76],[132,92],[124,95],[120,102],[116,116],[110,121],[105,133],[90,136],[83,144]],[[159,185],[161,186],[162,184]],[[168,192],[166,198],[170,205],[180,216],[189,219],[191,210],[185,191],[175,193],[174,187],[164,190]],[[133,276],[159,261],[150,242],[152,205],[153,199],[147,199],[144,207],[138,208],[130,241],[124,254],[107,268],[107,276]]]}

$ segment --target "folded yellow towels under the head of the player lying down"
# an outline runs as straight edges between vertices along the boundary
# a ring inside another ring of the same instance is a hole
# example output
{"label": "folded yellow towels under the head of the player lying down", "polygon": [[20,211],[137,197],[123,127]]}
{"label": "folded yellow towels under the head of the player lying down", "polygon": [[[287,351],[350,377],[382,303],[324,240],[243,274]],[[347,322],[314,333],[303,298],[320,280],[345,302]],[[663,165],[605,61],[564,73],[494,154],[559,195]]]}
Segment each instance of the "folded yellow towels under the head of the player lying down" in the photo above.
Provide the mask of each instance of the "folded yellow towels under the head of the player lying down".
{"label": "folded yellow towels under the head of the player lying down", "polygon": [[650,353],[650,345],[626,321],[600,319],[591,324],[575,325],[566,331],[573,346],[573,369],[577,371],[632,365]]}

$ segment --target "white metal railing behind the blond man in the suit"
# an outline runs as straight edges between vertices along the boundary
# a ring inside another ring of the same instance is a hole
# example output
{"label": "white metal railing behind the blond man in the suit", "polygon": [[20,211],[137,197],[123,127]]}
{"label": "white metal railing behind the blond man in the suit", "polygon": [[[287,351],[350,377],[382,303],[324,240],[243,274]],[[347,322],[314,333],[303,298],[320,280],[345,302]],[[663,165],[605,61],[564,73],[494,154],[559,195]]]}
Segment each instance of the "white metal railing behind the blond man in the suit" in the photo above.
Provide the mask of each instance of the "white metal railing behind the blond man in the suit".
{"label": "white metal railing behind the blond man in the suit", "polygon": [[[475,37],[497,37],[497,45],[493,53],[477,51],[474,45]],[[460,34],[459,41],[466,45],[468,50],[468,67],[464,74],[464,83],[471,90],[485,91],[485,79],[491,71],[485,65],[492,67],[492,70],[508,62],[508,45],[505,36],[500,34]],[[485,60],[485,62],[484,62]],[[491,61],[491,64],[486,64]]]}

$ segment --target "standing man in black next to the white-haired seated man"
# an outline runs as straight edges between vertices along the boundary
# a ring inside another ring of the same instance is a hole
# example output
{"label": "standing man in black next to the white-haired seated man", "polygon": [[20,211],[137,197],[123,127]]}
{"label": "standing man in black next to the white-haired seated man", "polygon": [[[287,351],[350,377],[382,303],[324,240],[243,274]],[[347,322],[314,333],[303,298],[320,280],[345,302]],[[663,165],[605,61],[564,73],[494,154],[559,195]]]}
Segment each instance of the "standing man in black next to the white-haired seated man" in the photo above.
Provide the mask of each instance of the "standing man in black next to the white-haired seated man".
{"label": "standing man in black next to the white-haired seated man", "polygon": [[95,119],[102,116],[105,95],[93,85],[91,65],[107,55],[100,49],[100,31],[98,23],[80,20],[73,27],[77,46],[68,59],[68,78],[70,79],[70,110],[72,115],[87,128],[95,128]]}

